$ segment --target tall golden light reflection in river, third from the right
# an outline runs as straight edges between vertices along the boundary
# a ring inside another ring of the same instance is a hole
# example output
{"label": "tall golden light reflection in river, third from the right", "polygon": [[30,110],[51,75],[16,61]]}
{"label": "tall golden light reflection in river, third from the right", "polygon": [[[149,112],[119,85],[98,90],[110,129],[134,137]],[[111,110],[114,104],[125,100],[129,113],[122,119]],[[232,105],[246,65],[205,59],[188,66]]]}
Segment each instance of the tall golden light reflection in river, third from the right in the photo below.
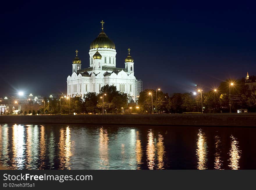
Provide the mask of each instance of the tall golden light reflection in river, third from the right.
{"label": "tall golden light reflection in river, third from the right", "polygon": [[198,169],[207,169],[207,152],[208,152],[208,147],[207,147],[207,142],[206,142],[206,137],[205,133],[202,132],[202,129],[198,130],[198,139],[197,139],[197,149],[196,149],[196,156],[198,158],[197,162],[197,168]]}

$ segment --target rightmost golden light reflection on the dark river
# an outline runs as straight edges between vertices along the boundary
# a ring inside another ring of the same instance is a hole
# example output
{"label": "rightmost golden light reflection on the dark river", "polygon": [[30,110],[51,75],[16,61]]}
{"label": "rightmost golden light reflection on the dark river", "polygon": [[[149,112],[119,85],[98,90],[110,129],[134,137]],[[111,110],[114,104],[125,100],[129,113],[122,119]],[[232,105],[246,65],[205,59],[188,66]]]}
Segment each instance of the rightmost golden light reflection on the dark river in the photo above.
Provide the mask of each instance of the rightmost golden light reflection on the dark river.
{"label": "rightmost golden light reflection on the dark river", "polygon": [[231,147],[229,151],[230,164],[228,165],[231,169],[239,169],[239,160],[241,155],[241,150],[239,150],[238,141],[234,136],[231,136]]}

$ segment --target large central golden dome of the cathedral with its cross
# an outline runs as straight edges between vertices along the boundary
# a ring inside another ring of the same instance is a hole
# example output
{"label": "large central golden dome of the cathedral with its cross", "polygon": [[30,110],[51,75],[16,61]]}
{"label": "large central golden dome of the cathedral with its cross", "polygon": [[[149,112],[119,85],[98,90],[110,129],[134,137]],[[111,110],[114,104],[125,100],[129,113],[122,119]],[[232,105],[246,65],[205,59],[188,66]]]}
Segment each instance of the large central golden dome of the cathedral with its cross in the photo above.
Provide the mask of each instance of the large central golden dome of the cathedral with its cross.
{"label": "large central golden dome of the cathedral with its cross", "polygon": [[115,44],[109,39],[109,37],[106,35],[106,33],[103,31],[103,24],[104,22],[100,22],[102,24],[102,31],[99,33],[98,37],[93,40],[93,42],[90,45],[90,49],[96,48],[96,45],[98,45],[98,48],[112,48],[115,49]]}

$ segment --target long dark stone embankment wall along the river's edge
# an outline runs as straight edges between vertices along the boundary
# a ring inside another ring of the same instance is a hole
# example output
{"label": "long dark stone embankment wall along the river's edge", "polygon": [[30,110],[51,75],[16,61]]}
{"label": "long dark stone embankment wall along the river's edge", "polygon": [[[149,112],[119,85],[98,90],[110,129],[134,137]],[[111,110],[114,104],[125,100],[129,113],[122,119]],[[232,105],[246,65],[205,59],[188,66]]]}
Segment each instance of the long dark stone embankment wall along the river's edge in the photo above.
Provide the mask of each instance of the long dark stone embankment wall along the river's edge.
{"label": "long dark stone embankment wall along the river's edge", "polygon": [[256,113],[0,116],[0,123],[256,127]]}

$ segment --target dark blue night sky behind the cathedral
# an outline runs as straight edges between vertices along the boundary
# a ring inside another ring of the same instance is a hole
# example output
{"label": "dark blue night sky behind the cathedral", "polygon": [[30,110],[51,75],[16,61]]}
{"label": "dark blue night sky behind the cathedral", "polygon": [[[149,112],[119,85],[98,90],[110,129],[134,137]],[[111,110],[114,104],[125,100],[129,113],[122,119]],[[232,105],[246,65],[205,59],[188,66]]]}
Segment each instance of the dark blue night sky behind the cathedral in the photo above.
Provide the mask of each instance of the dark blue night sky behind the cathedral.
{"label": "dark blue night sky behind the cathedral", "polygon": [[191,92],[197,83],[209,90],[247,71],[255,75],[255,4],[231,2],[1,3],[0,97],[19,90],[65,93],[74,51],[79,50],[82,68],[89,67],[90,43],[102,19],[116,46],[117,67],[124,67],[130,47],[143,89]]}

